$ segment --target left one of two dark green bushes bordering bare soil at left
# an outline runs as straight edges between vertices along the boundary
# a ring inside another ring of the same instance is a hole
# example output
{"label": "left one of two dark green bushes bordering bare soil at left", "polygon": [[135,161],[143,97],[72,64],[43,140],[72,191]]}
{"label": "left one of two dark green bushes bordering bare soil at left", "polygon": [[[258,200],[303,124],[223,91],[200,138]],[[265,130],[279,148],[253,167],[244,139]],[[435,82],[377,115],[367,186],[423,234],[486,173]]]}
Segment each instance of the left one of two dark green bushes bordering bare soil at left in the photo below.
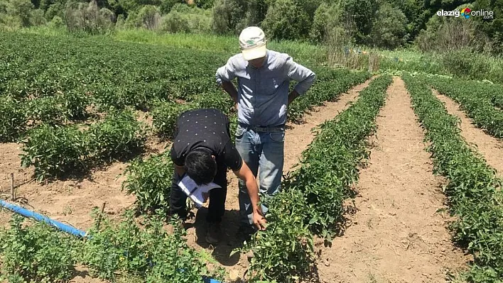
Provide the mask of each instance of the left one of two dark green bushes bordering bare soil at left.
{"label": "left one of two dark green bushes bordering bare soil at left", "polygon": [[42,125],[31,130],[22,142],[21,166],[35,166],[38,182],[85,169],[84,137],[77,128]]}

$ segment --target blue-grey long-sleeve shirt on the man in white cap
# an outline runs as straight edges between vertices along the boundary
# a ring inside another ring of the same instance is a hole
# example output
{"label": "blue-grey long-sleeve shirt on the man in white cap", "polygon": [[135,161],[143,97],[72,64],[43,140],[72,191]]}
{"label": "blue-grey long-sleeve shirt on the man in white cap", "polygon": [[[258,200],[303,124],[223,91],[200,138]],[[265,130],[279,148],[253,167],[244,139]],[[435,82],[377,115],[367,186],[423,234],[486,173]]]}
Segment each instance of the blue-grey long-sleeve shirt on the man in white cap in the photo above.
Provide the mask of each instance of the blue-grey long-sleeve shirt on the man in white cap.
{"label": "blue-grey long-sleeve shirt on the man in white cap", "polygon": [[297,64],[287,54],[267,50],[260,68],[244,60],[241,53],[217,70],[217,84],[237,78],[238,121],[250,126],[279,126],[286,123],[290,80],[303,95],[313,85],[315,73]]}

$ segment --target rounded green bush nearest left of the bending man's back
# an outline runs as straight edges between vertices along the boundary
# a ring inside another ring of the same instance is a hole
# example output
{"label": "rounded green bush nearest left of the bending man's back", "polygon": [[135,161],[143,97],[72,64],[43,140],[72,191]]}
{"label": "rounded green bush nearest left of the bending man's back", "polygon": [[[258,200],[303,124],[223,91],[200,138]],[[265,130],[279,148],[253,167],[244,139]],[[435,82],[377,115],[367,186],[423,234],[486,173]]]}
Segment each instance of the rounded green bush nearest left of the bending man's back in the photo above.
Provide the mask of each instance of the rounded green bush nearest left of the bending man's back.
{"label": "rounded green bush nearest left of the bending man's back", "polygon": [[86,138],[90,154],[108,161],[138,152],[146,140],[141,123],[129,111],[109,112],[86,131]]}

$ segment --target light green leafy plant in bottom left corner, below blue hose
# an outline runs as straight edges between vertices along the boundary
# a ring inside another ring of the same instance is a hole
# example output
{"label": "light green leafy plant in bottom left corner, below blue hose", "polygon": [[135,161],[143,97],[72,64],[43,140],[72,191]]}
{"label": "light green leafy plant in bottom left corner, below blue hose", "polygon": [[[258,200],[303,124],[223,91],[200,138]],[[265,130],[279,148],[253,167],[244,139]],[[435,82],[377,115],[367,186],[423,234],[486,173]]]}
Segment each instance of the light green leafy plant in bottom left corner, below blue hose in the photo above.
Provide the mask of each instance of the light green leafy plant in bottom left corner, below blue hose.
{"label": "light green leafy plant in bottom left corner, below blue hose", "polygon": [[44,223],[23,225],[13,215],[10,229],[0,230],[0,279],[9,282],[69,282],[77,242]]}

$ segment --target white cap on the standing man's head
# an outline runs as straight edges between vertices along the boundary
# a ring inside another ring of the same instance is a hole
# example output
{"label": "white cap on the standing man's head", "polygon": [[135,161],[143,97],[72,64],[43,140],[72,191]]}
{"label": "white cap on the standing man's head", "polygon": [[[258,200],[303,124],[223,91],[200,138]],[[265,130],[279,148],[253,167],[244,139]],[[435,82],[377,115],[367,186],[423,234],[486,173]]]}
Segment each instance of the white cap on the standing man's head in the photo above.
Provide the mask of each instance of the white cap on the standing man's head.
{"label": "white cap on the standing man's head", "polygon": [[244,60],[254,60],[266,55],[266,35],[256,26],[245,28],[239,35],[239,47]]}

